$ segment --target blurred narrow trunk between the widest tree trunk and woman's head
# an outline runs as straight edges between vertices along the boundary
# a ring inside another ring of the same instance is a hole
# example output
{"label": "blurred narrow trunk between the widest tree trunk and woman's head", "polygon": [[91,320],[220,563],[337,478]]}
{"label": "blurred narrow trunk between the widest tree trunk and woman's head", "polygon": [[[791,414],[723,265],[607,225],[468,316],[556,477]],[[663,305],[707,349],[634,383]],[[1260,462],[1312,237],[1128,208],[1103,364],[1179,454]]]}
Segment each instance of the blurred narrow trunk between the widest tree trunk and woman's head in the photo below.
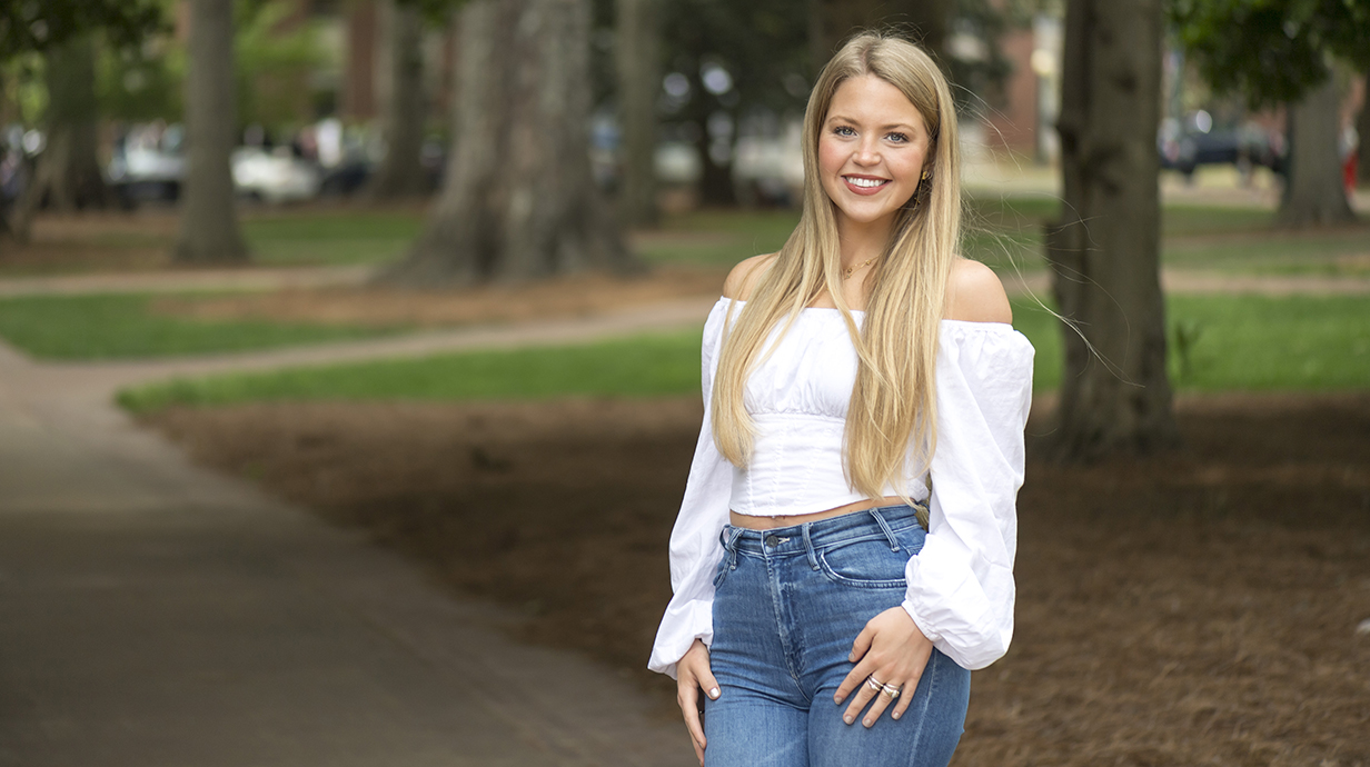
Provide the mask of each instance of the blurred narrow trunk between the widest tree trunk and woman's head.
{"label": "blurred narrow trunk between the widest tree trunk and woman's head", "polygon": [[660,0],[618,0],[618,110],[623,126],[619,219],[656,223],[656,97],[662,90]]}

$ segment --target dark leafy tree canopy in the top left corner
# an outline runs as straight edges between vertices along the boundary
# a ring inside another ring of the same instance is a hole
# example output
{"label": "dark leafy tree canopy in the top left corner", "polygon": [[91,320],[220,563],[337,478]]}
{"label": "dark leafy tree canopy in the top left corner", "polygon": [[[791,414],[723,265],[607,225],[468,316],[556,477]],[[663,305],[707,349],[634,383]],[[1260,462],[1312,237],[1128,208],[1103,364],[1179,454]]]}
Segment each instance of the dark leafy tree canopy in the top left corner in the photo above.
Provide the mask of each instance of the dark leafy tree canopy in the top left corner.
{"label": "dark leafy tree canopy in the top left corner", "polygon": [[44,51],[92,29],[116,45],[163,26],[160,0],[0,0],[0,59]]}

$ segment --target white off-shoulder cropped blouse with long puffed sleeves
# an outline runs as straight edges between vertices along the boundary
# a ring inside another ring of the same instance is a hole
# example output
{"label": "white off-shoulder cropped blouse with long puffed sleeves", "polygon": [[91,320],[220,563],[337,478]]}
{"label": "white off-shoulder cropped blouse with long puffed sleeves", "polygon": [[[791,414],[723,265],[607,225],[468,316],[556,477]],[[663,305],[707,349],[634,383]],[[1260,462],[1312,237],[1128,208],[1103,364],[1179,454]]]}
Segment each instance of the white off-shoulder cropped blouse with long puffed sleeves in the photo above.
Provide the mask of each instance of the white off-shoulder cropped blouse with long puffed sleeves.
{"label": "white off-shoulder cropped blouse with long puffed sleeves", "polygon": [[[748,378],[744,404],[756,422],[748,468],[718,452],[710,405],[730,304],[736,319],[743,301],[719,299],[704,323],[704,425],[671,531],[674,596],[648,662],[652,671],[671,677],[696,638],[712,644],[714,571],[729,510],[811,514],[863,497],[843,473],[856,349],[838,310],[801,311]],[[852,316],[858,325],[863,318],[859,311]],[[906,475],[906,492],[929,501],[930,526],[922,551],[908,560],[903,607],[933,646],[970,670],[1001,657],[1014,631],[1015,500],[1023,481],[1032,360],[1032,344],[1010,325],[941,320],[937,451],[927,471],[910,463]]]}

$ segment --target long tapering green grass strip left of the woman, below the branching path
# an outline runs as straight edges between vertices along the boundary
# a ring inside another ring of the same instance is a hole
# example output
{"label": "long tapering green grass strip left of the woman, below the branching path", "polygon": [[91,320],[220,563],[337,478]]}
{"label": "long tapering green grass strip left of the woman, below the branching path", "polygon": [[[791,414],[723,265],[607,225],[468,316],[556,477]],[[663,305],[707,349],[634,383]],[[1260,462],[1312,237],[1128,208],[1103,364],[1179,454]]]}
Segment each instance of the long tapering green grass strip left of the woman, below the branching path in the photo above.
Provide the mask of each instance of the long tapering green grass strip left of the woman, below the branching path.
{"label": "long tapering green grass strip left of the woman, below the branching path", "polygon": [[699,392],[699,333],[578,347],[467,352],[171,381],[122,392],[134,412],[252,400],[651,397]]}

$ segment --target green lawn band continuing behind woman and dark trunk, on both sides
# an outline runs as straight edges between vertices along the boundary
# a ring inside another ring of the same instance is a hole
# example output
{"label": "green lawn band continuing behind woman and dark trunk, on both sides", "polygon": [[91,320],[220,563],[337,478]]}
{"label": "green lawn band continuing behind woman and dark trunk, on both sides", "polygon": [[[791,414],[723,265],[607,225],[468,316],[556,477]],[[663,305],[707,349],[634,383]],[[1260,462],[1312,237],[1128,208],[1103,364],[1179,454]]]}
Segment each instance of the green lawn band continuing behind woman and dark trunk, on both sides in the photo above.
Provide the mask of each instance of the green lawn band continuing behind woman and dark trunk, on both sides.
{"label": "green lawn band continuing behind woman and dark trunk, on both sides", "polygon": [[[1359,297],[1178,296],[1170,318],[1192,338],[1173,353],[1181,389],[1370,386],[1370,312]],[[1060,378],[1055,319],[1032,304],[1015,325],[1037,347],[1034,388]],[[173,381],[121,393],[133,411],[251,400],[469,400],[556,396],[649,397],[699,390],[699,336],[655,334],[580,347],[470,352],[278,373]]]}

